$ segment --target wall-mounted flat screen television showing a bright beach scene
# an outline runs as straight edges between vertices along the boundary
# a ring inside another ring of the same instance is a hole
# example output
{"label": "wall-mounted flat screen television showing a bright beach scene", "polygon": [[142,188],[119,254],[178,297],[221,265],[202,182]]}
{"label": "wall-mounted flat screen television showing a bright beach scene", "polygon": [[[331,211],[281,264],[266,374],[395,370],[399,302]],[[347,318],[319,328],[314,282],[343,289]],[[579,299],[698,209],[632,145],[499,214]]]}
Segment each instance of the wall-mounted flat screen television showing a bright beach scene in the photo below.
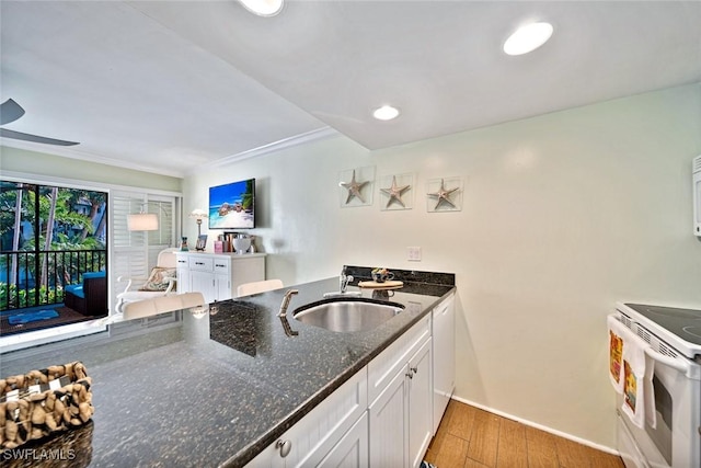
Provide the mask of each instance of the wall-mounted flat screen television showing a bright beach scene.
{"label": "wall-mounted flat screen television showing a bright beach scene", "polygon": [[209,229],[255,227],[255,179],[209,187]]}

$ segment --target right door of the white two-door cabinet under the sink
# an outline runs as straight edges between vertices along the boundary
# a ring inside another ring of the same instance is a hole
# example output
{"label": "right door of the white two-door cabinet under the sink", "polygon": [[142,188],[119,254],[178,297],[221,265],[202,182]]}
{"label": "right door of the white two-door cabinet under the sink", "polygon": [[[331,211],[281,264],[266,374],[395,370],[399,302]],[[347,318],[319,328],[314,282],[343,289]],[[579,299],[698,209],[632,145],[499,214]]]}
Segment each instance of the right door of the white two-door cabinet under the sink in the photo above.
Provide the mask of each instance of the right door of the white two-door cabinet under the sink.
{"label": "right door of the white two-door cabinet under the sink", "polygon": [[433,434],[432,340],[428,339],[409,361],[409,461],[416,468]]}

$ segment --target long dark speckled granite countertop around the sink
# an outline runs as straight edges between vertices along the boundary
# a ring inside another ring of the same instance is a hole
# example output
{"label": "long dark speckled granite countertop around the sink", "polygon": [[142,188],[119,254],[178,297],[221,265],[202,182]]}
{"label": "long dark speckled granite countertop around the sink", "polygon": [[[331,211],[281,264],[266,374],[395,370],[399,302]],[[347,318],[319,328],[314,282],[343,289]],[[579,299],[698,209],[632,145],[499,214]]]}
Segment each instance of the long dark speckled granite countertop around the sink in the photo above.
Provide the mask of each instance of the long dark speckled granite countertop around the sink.
{"label": "long dark speckled granite countertop around the sink", "polygon": [[[367,269],[353,272],[357,284]],[[335,333],[288,313],[299,334],[287,335],[277,317],[284,293],[291,288],[286,287],[216,303],[200,318],[183,311],[182,322],[166,327],[139,321],[137,333],[8,353],[1,364],[4,377],[82,361],[93,379],[90,423],[21,448],[34,454],[71,448],[71,467],[243,466],[453,289],[451,274],[438,274],[435,284],[422,282],[435,281],[435,274],[404,273],[398,275],[405,281],[401,289],[361,289],[363,297],[405,306],[404,312],[366,332]],[[289,312],[337,290],[338,279],[294,288],[299,294]],[[8,466],[36,463],[10,461]]]}

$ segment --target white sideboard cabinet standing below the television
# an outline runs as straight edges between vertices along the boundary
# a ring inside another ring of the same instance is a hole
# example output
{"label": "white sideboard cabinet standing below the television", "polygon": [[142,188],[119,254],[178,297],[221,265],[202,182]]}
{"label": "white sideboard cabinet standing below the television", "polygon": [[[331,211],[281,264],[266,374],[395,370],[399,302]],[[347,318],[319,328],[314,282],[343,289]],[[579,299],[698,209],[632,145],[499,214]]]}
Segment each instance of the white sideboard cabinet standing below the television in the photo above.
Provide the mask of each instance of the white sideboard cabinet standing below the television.
{"label": "white sideboard cabinet standing below the television", "polygon": [[177,292],[199,292],[207,303],[235,297],[243,283],[265,279],[265,253],[176,252]]}

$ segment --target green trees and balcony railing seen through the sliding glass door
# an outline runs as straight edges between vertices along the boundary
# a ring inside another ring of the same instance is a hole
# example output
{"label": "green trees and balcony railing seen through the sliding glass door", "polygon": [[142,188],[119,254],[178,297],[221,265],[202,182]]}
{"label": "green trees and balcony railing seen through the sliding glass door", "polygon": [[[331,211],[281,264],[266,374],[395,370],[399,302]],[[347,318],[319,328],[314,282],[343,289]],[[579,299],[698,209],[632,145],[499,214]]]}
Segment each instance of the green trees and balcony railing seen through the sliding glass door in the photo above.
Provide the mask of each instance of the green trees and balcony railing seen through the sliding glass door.
{"label": "green trees and balcony railing seen through the sliding glass door", "polygon": [[[0,182],[0,310],[60,303],[65,285],[105,266],[106,202],[102,192]],[[99,251],[96,263],[88,251]]]}

